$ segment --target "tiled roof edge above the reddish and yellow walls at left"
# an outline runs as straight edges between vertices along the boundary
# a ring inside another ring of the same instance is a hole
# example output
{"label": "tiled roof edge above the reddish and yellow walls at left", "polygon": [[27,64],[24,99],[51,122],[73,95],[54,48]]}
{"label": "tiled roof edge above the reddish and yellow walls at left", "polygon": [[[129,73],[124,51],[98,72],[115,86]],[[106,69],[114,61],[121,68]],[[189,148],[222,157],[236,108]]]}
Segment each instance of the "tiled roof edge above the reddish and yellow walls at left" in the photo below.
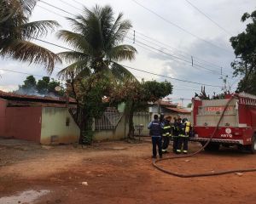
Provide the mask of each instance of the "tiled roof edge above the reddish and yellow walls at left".
{"label": "tiled roof edge above the reddish and yellow walls at left", "polygon": [[[49,97],[49,96],[36,96],[36,95],[21,95],[14,93],[7,93],[0,90],[0,99],[11,99],[20,101],[35,101],[42,103],[66,103],[67,99],[65,97]],[[76,100],[69,98],[69,103],[76,104]]]}

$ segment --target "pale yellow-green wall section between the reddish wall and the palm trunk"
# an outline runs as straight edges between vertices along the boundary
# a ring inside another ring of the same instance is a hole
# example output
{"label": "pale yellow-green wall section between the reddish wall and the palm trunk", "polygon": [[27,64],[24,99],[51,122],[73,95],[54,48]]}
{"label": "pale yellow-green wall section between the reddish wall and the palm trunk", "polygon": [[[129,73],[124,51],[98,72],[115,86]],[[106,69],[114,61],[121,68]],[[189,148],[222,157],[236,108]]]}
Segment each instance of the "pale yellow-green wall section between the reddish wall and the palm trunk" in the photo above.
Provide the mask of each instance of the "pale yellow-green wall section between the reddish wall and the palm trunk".
{"label": "pale yellow-green wall section between the reddish wall and the palm trunk", "polygon": [[[69,125],[66,125],[69,118]],[[79,127],[67,108],[43,107],[41,144],[69,144],[79,139]]]}

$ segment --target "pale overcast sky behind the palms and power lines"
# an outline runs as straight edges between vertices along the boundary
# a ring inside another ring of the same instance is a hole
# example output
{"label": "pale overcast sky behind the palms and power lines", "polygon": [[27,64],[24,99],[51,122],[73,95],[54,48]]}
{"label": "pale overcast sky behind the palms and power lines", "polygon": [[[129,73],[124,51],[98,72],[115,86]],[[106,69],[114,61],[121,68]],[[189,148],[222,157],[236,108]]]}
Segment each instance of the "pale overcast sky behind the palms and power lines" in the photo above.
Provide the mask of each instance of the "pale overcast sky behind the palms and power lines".
{"label": "pale overcast sky behind the palms and power lines", "polygon": [[[246,23],[241,23],[241,15],[256,9],[255,0],[42,0],[31,20],[57,20],[61,26],[41,39],[68,48],[56,37],[58,30],[72,31],[65,17],[73,18],[82,13],[84,6],[92,8],[96,4],[110,5],[116,16],[122,12],[124,19],[131,20],[133,27],[123,43],[137,48],[137,55],[135,60],[120,64],[158,75],[128,69],[139,80],[172,82],[173,93],[168,96],[172,102],[187,105],[195,92],[200,93],[202,84],[212,85],[206,86],[207,94],[221,93],[221,78],[225,76],[231,91],[236,90],[239,77],[232,77],[230,63],[236,57],[229,39],[244,31]],[[36,43],[55,53],[67,51]],[[66,65],[55,65],[50,77],[58,79],[57,72]],[[17,89],[30,74],[37,79],[48,76],[42,65],[0,59],[0,90]]]}

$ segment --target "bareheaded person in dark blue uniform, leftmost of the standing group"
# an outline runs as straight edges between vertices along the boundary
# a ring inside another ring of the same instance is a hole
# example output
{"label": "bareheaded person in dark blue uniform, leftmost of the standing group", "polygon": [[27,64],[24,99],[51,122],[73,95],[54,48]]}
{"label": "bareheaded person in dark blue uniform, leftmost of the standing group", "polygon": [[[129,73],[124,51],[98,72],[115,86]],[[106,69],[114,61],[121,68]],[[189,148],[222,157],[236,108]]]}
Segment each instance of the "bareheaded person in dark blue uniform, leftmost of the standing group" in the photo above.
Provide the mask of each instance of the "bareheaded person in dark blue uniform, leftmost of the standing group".
{"label": "bareheaded person in dark blue uniform, leftmost of the standing group", "polygon": [[152,139],[153,156],[156,158],[156,145],[158,146],[158,152],[160,158],[162,158],[162,139],[161,139],[161,122],[158,120],[158,115],[154,115],[154,121],[148,124],[149,135]]}

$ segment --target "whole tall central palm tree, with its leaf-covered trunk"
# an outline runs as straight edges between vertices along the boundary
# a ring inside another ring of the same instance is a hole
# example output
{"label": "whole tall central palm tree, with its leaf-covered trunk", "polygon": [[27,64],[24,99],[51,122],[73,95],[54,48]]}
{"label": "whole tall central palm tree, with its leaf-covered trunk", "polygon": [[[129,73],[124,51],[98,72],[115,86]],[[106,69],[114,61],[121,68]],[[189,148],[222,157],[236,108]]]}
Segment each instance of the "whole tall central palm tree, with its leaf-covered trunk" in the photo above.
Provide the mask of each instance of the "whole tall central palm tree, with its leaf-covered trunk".
{"label": "whole tall central palm tree, with its leaf-covered trunk", "polygon": [[74,19],[67,18],[73,31],[58,33],[58,37],[74,49],[59,54],[70,64],[59,75],[69,79],[73,96],[79,103],[82,114],[80,118],[83,119],[79,122],[80,141],[85,137],[86,131],[90,130],[92,120],[92,115],[88,115],[86,110],[95,107],[95,110],[100,111],[96,107],[98,103],[85,103],[88,102],[88,96],[94,95],[95,99],[102,100],[108,94],[107,85],[102,86],[106,78],[113,83],[122,82],[126,77],[132,78],[131,72],[119,65],[119,61],[134,59],[137,52],[131,45],[121,44],[131,28],[129,20],[122,20],[122,13],[115,19],[110,6],[96,5],[92,9],[83,9],[83,14]]}

